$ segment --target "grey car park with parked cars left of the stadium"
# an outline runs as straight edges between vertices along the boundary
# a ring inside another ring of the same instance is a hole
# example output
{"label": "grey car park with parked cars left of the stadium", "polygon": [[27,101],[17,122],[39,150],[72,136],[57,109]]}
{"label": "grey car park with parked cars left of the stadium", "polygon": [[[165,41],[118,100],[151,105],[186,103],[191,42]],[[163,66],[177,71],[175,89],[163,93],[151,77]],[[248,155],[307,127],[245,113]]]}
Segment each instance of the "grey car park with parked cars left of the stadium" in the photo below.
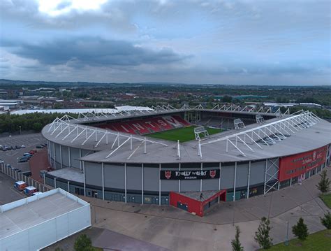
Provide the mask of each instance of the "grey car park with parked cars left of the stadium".
{"label": "grey car park with parked cars left of the stadium", "polygon": [[40,145],[45,142],[45,138],[43,138],[41,134],[24,134],[11,137],[1,137],[0,145],[25,145],[26,148],[7,150],[5,152],[0,150],[0,159],[2,159],[5,164],[10,164],[12,167],[19,168],[21,171],[29,171],[29,162],[18,163],[17,158],[22,157],[25,152],[36,149],[36,145]]}

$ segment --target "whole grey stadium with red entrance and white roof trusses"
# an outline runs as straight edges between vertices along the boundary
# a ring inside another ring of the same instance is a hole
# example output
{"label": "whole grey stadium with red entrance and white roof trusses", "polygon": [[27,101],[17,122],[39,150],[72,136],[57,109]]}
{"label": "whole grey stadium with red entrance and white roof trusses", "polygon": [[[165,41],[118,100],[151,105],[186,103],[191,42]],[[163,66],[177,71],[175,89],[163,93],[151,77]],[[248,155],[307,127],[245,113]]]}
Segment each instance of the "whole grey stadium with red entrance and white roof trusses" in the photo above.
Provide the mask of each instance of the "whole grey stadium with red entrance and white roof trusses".
{"label": "whole grey stadium with red entrance and white roof trusses", "polygon": [[302,182],[330,163],[330,123],[304,110],[121,107],[64,115],[42,134],[47,185],[200,216],[217,202]]}

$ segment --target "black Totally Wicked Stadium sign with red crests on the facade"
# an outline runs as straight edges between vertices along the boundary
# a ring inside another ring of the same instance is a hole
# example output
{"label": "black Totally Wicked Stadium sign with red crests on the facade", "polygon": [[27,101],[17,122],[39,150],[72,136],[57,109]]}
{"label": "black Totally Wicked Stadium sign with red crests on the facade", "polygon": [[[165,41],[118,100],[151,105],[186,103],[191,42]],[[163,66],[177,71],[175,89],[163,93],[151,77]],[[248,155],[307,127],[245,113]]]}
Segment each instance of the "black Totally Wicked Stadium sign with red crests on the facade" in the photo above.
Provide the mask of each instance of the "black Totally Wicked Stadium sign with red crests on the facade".
{"label": "black Totally Wicked Stadium sign with red crests on the facade", "polygon": [[205,179],[218,179],[219,169],[205,170],[205,171],[174,171],[174,170],[161,170],[161,180],[205,180]]}

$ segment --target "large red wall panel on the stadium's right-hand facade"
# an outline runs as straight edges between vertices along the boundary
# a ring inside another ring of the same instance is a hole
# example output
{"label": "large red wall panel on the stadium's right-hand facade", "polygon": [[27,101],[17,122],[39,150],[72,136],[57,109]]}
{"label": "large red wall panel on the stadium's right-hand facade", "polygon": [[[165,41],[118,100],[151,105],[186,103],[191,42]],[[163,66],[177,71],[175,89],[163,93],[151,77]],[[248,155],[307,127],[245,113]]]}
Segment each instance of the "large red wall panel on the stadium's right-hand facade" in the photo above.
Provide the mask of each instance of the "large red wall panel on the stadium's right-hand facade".
{"label": "large red wall panel on the stadium's right-hand facade", "polygon": [[281,157],[279,160],[279,181],[302,175],[325,163],[328,147],[317,148],[297,155]]}

